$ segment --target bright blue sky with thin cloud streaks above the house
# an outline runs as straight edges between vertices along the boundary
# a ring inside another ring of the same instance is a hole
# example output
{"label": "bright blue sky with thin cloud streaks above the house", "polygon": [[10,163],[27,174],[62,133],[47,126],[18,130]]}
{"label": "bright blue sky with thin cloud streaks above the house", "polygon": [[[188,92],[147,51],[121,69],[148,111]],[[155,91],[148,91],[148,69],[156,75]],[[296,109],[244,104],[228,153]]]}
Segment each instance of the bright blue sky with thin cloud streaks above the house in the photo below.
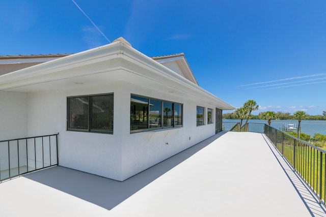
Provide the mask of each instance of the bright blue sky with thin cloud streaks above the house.
{"label": "bright blue sky with thin cloud streaks above the house", "polygon": [[326,111],[326,1],[0,0],[0,55],[76,53],[119,37],[148,56],[183,52],[234,107]]}

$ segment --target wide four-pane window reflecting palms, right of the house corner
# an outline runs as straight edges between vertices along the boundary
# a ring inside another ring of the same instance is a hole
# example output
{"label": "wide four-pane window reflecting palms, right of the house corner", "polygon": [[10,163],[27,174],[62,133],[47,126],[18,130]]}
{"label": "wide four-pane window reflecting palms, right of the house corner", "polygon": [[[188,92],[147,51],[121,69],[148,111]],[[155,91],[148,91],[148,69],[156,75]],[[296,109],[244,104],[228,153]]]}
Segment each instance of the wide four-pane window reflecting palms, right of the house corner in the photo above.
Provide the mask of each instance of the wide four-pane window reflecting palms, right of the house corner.
{"label": "wide four-pane window reflecting palms, right of the house corner", "polygon": [[174,127],[182,127],[182,104],[131,95],[130,131]]}

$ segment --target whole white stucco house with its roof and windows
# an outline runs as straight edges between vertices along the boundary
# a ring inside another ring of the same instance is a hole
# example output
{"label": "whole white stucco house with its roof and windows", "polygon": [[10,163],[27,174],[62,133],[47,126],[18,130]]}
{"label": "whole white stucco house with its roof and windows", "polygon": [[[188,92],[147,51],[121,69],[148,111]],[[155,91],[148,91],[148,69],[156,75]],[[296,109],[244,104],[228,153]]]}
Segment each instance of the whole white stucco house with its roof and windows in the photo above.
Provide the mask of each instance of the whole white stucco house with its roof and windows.
{"label": "whole white stucco house with its roof and windows", "polygon": [[59,133],[59,165],[115,180],[222,131],[233,109],[198,85],[183,53],[151,58],[122,38],[0,58],[0,141]]}

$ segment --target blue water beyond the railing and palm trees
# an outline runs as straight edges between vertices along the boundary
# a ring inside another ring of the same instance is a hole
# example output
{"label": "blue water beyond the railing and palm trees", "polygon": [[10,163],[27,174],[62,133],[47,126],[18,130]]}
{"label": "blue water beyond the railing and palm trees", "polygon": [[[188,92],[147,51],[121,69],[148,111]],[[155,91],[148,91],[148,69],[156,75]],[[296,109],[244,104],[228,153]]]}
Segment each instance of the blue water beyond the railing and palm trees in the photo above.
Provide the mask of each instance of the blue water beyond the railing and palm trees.
{"label": "blue water beyond the railing and palm trees", "polygon": [[[224,122],[240,122],[238,119],[223,119]],[[243,123],[246,120],[243,120]],[[267,123],[267,120],[249,120],[249,122],[254,123]],[[242,124],[243,124],[242,123]],[[294,124],[297,127],[298,121],[297,120],[271,120],[270,126],[276,128],[278,130],[282,130],[283,126],[287,126],[288,123]],[[319,133],[322,135],[326,135],[326,120],[302,120],[301,121],[301,132],[311,135],[311,137],[315,133]]]}

